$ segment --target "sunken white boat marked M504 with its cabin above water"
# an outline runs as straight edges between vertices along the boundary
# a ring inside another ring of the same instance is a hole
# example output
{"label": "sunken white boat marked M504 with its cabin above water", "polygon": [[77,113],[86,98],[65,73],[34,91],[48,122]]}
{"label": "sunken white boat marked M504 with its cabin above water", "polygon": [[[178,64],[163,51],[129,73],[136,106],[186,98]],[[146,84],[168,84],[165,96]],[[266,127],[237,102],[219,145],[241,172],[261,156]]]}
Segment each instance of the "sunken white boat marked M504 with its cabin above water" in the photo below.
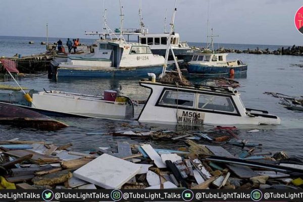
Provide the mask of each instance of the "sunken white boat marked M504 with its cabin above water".
{"label": "sunken white boat marked M504 with its cabin above water", "polygon": [[140,80],[151,90],[140,122],[201,126],[205,124],[280,124],[267,111],[245,108],[237,90],[229,87],[176,86]]}

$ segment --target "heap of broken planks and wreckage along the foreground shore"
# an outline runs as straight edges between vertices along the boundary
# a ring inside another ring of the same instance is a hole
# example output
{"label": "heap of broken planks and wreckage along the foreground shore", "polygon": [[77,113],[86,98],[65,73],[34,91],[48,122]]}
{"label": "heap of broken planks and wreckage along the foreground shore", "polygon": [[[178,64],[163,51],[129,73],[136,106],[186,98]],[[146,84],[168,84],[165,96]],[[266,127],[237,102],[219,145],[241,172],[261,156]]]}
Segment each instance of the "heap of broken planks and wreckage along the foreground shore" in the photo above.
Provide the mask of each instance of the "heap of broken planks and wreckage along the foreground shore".
{"label": "heap of broken planks and wreckage along the foreground shore", "polygon": [[[130,137],[154,134],[162,141],[165,138],[186,144],[172,150],[149,143],[118,142],[117,148],[99,147],[95,152],[80,153],[69,150],[72,144],[58,146],[16,138],[0,142],[1,180],[6,188],[21,189],[297,189],[303,184],[303,162],[289,159],[284,152],[271,155],[260,144],[241,141],[235,127],[217,127],[208,134],[126,133]],[[229,140],[233,138],[236,141]],[[240,152],[232,155],[220,146],[224,142],[238,146]]]}

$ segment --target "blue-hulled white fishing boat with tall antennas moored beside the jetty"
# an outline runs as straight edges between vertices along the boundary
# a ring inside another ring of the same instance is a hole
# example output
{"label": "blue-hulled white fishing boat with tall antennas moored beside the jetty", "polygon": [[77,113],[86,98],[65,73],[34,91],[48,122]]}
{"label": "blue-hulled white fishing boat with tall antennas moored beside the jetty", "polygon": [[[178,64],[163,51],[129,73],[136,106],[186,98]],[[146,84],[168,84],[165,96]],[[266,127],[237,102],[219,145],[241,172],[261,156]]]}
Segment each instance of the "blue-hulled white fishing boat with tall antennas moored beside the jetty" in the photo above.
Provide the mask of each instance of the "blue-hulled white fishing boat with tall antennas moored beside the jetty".
{"label": "blue-hulled white fishing boat with tall antennas moored beside the jetty", "polygon": [[[104,33],[86,33],[103,36],[95,41],[94,53],[68,55],[67,62],[59,64],[57,77],[140,77],[150,71],[162,73],[163,56],[154,55],[147,44],[127,42],[124,39],[121,1],[120,12],[120,35],[117,36],[107,25],[105,10]],[[169,65],[169,68],[173,68],[173,65]]]}

